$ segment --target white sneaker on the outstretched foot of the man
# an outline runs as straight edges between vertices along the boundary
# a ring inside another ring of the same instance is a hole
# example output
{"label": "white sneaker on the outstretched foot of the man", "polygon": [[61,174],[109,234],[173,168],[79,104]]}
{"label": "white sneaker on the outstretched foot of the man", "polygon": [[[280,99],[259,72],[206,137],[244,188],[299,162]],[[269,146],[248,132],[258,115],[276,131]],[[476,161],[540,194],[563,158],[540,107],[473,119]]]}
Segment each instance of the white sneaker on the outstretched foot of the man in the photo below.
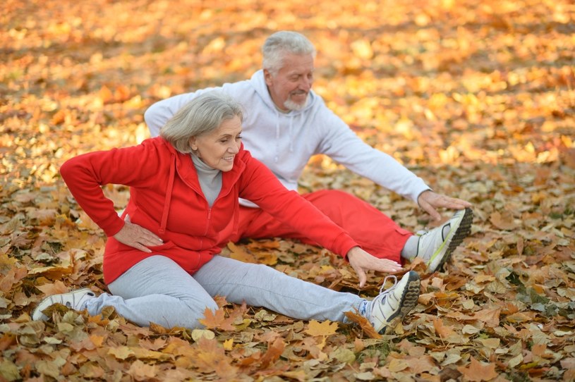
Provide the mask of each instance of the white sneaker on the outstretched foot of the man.
{"label": "white sneaker on the outstretched foot of the man", "polygon": [[461,209],[442,226],[417,233],[419,241],[416,257],[425,261],[428,272],[443,269],[455,248],[471,233],[472,221],[473,211],[468,208]]}

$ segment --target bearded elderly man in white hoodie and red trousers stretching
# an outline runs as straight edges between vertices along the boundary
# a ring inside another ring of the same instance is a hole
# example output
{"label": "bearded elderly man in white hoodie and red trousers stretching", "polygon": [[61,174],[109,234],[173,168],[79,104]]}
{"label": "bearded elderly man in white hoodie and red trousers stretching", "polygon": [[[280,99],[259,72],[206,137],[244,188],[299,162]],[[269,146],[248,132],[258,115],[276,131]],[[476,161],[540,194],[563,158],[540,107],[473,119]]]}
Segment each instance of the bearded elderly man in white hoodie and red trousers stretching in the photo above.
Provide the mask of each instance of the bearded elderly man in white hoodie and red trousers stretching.
{"label": "bearded elderly man in white hoodie and red trousers stretching", "polygon": [[[428,232],[413,234],[367,202],[339,190],[306,193],[305,199],[344,228],[365,251],[379,259],[401,261],[420,257],[428,272],[442,269],[454,249],[471,231],[471,204],[433,192],[423,180],[408,171],[392,156],[365,144],[344,121],[330,111],[323,99],[311,90],[315,48],[297,32],[276,32],[262,47],[263,65],[250,80],[226,83],[164,99],[150,106],[145,121],[152,136],[181,108],[199,94],[221,90],[243,104],[243,144],[268,166],[291,190],[310,156],[325,154],[351,171],[408,197],[441,219],[437,208],[456,209],[446,223]],[[293,228],[280,223],[255,204],[241,201],[240,238],[296,238]],[[351,261],[350,261],[351,262]],[[377,269],[375,259],[354,259],[358,273]]]}

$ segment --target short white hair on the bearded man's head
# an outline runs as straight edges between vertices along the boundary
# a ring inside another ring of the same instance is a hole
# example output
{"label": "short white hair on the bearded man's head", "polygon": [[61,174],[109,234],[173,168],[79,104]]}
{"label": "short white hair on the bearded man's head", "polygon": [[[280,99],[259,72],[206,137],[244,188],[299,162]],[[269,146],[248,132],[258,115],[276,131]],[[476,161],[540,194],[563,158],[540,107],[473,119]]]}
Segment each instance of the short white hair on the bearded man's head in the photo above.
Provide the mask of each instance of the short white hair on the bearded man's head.
{"label": "short white hair on the bearded man's head", "polygon": [[284,64],[286,54],[311,54],[315,58],[315,53],[315,47],[307,37],[298,32],[282,30],[265,40],[262,47],[262,67],[276,75]]}

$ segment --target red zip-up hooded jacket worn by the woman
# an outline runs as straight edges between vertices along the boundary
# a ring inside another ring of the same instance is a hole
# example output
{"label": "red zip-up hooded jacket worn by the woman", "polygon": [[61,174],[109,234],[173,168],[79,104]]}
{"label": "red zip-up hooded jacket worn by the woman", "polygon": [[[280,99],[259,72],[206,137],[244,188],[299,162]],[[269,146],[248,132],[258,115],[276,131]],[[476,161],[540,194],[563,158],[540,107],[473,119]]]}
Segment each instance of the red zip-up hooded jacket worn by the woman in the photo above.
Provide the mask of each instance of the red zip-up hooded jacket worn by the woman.
{"label": "red zip-up hooded jacket worn by the woman", "polygon": [[[344,256],[358,244],[313,204],[286,190],[273,173],[243,149],[231,171],[222,173],[222,190],[212,207],[205,199],[189,154],[161,137],[123,149],[92,152],[66,161],[60,169],[80,207],[109,237],[104,251],[104,281],[111,283],[139,261],[162,254],[188,273],[219,254],[238,226],[238,197],[251,200],[306,237]],[[124,221],[102,192],[109,183],[130,187],[123,216],[164,240],[152,253],[113,238]]]}

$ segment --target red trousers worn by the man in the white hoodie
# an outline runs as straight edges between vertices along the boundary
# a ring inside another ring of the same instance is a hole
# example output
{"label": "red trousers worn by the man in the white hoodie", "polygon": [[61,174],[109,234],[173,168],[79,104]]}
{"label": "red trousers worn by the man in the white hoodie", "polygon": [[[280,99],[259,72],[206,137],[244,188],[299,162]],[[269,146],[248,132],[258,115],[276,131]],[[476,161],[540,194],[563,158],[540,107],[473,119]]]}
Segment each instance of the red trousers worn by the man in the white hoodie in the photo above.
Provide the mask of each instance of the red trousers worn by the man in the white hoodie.
{"label": "red trousers worn by the man in the white hoodie", "polygon": [[[347,192],[321,190],[302,195],[334,223],[344,228],[365,251],[380,259],[401,261],[401,249],[413,233],[399,227],[389,216]],[[262,211],[240,208],[238,238],[291,238],[306,244],[313,240]]]}

